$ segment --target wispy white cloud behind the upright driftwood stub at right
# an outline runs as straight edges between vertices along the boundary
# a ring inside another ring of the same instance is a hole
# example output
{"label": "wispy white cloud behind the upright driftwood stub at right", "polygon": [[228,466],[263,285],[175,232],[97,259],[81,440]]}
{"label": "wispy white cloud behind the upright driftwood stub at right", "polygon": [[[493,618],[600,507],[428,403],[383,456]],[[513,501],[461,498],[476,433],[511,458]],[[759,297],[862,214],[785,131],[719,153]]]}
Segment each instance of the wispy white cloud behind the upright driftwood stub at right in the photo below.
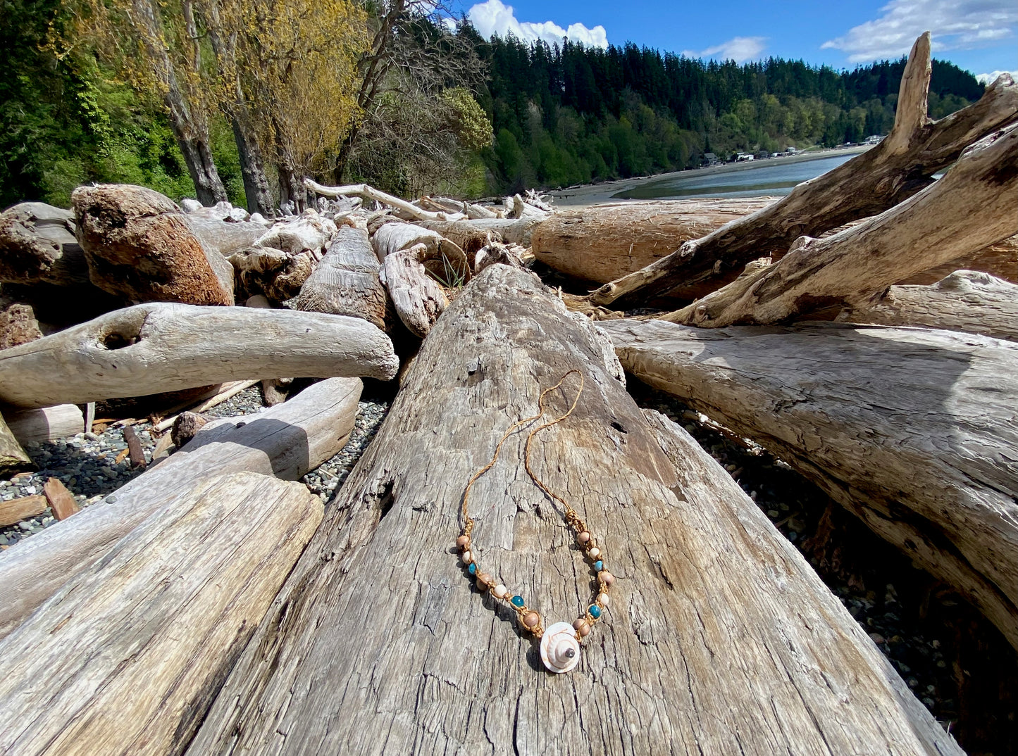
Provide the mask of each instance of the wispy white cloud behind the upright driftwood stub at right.
{"label": "wispy white cloud behind the upright driftwood stub at right", "polygon": [[880,18],[853,26],[823,49],[848,53],[851,63],[907,55],[915,38],[932,33],[932,50],[971,50],[1015,35],[1014,0],[891,0]]}

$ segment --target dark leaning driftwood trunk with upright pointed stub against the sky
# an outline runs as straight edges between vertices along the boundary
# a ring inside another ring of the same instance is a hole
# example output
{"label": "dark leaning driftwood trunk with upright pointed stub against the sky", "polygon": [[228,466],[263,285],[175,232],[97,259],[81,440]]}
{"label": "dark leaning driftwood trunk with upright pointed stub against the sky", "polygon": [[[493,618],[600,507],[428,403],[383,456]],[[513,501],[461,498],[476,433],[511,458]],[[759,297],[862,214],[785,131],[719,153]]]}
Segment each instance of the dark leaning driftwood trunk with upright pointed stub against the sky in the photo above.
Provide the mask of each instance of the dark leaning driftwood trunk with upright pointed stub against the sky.
{"label": "dark leaning driftwood trunk with upright pointed stub against the sky", "polygon": [[883,213],[928,185],[972,142],[1018,118],[1018,84],[1002,74],[982,98],[939,121],[926,115],[929,33],[909,55],[891,133],[876,147],[751,216],[733,221],[676,252],[602,286],[591,295],[608,305],[622,296],[630,305],[691,286],[752,259],[782,252],[804,234],[817,236],[858,218]]}

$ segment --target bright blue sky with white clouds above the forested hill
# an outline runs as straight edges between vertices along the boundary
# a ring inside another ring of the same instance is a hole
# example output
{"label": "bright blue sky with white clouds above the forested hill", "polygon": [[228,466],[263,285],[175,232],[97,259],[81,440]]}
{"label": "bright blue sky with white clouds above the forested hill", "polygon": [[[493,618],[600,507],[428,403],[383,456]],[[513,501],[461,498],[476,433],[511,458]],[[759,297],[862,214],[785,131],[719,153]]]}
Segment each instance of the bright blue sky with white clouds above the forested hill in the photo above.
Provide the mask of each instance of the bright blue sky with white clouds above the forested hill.
{"label": "bright blue sky with white clouds above the forested hill", "polygon": [[774,55],[836,68],[907,54],[928,28],[935,57],[975,74],[1018,69],[1018,0],[486,0],[460,9],[483,33],[565,33],[585,44],[631,41],[694,57]]}

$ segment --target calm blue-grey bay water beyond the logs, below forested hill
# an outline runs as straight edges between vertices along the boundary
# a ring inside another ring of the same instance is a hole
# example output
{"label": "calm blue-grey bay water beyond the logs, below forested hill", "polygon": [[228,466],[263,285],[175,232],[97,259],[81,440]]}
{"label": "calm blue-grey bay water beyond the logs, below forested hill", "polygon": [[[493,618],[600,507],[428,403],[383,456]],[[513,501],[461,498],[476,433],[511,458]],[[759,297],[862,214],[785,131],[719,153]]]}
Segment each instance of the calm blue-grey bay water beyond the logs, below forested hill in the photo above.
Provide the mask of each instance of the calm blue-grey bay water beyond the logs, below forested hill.
{"label": "calm blue-grey bay water beyond the logs, below forested hill", "polygon": [[832,168],[837,168],[854,155],[839,155],[833,158],[817,158],[800,163],[782,163],[781,158],[760,161],[759,166],[743,168],[741,165],[731,171],[703,174],[690,171],[686,175],[647,181],[645,184],[613,194],[613,199],[676,199],[696,196],[759,196],[772,194],[781,196],[792,190],[796,184]]}

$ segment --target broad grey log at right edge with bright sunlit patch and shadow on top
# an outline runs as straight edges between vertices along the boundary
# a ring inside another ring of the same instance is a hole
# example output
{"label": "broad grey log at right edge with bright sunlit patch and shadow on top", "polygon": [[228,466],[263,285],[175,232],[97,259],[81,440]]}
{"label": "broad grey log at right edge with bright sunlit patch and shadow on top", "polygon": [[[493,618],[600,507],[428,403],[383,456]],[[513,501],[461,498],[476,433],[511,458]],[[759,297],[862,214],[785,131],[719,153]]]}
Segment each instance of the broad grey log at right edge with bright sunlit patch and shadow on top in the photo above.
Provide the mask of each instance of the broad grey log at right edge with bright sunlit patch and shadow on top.
{"label": "broad grey log at right edge with bright sunlit patch and shadow on top", "polygon": [[601,325],[629,372],[796,467],[1018,647],[1018,345],[834,324]]}

